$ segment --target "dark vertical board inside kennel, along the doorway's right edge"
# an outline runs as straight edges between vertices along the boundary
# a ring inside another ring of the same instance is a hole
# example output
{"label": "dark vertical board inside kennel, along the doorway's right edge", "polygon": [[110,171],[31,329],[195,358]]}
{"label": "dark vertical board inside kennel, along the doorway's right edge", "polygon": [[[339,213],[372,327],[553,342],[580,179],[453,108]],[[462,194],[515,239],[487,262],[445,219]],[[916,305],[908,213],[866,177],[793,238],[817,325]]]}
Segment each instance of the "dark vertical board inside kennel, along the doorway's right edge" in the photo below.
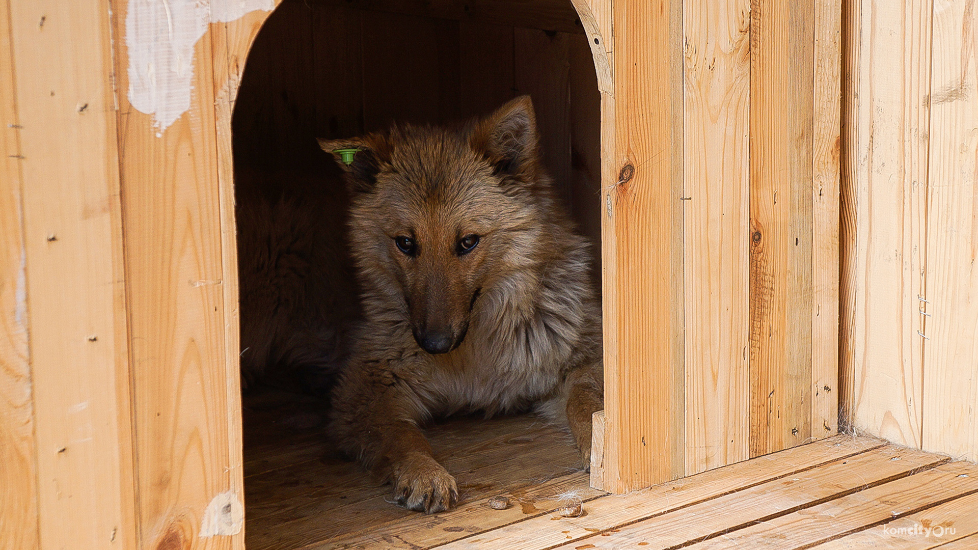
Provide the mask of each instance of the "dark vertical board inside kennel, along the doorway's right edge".
{"label": "dark vertical board inside kennel, along the doorway's right edge", "polygon": [[588,37],[570,39],[570,207],[578,227],[595,245],[600,277],[601,242],[601,97]]}

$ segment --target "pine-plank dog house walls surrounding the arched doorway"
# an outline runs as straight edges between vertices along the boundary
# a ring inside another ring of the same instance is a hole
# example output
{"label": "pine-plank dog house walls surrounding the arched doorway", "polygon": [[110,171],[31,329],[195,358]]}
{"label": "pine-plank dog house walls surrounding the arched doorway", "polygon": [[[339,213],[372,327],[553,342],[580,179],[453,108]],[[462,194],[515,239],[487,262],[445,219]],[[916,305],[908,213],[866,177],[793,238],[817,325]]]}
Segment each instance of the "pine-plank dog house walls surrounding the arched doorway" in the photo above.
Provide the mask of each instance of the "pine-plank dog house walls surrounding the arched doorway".
{"label": "pine-plank dog house walls surrounding the arched doorway", "polygon": [[[551,168],[600,224],[599,488],[839,419],[976,460],[972,4],[287,0],[270,40],[289,42],[261,55],[309,47],[333,69],[252,99],[379,106],[342,133],[484,112],[515,93],[502,81],[535,94]],[[0,548],[244,547],[232,118],[275,8],[0,10]],[[303,45],[317,28],[359,57]],[[413,32],[398,55],[441,56],[430,103],[372,103],[384,74],[418,76],[403,64],[358,73],[359,98],[312,97]],[[257,63],[301,79],[299,58]]]}

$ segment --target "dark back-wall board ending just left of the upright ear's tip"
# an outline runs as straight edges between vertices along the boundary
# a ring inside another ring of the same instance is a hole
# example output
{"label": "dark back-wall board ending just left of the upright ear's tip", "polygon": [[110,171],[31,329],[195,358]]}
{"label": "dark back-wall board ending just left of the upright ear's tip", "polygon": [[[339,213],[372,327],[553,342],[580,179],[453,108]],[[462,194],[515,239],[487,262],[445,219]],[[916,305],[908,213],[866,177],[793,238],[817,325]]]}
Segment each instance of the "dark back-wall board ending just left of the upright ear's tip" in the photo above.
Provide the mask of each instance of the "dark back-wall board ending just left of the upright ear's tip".
{"label": "dark back-wall board ending just left of the upright ear's tip", "polygon": [[512,34],[511,26],[460,23],[462,116],[487,115],[515,95]]}

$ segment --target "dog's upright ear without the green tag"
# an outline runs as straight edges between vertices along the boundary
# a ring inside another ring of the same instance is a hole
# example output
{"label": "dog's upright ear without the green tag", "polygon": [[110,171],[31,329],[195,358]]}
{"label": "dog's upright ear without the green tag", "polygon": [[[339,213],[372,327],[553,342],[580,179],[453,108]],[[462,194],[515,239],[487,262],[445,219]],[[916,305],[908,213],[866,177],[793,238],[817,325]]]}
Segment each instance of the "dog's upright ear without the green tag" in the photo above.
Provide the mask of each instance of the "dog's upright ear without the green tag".
{"label": "dog's upright ear without the green tag", "polygon": [[540,146],[530,96],[512,99],[477,121],[468,144],[492,162],[496,173],[517,174],[532,169],[539,160]]}

